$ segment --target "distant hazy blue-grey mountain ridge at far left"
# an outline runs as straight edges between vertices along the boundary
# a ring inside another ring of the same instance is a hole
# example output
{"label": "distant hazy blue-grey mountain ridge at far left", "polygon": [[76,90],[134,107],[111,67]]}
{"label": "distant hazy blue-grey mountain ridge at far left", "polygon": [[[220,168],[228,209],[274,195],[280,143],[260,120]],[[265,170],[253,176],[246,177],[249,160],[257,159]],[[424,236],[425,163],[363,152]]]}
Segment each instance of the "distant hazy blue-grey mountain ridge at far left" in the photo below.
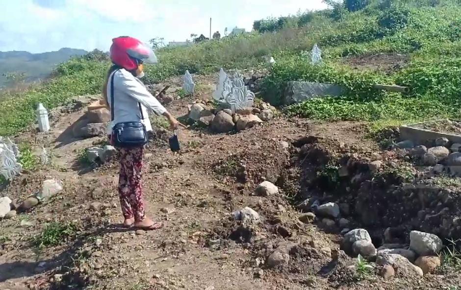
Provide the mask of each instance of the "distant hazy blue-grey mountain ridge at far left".
{"label": "distant hazy blue-grey mountain ridge at far left", "polygon": [[[47,78],[56,66],[73,56],[81,56],[82,49],[61,48],[58,51],[30,53],[27,51],[0,51],[0,88],[12,86],[18,81],[31,82]],[[14,80],[5,74],[21,76]],[[24,75],[22,75],[24,74]]]}

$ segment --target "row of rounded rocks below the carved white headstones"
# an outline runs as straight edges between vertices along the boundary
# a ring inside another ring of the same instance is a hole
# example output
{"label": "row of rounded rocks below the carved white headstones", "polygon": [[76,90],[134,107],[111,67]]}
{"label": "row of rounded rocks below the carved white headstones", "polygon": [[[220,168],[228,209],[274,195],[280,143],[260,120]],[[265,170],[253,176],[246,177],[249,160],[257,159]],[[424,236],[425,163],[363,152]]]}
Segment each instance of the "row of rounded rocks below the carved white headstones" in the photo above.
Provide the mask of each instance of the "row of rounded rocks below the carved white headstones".
{"label": "row of rounded rocks below the carved white headstones", "polygon": [[242,131],[274,118],[275,108],[267,103],[257,107],[238,109],[235,113],[229,108],[211,108],[206,101],[196,100],[188,106],[188,118],[200,126],[210,127],[216,133],[233,130]]}

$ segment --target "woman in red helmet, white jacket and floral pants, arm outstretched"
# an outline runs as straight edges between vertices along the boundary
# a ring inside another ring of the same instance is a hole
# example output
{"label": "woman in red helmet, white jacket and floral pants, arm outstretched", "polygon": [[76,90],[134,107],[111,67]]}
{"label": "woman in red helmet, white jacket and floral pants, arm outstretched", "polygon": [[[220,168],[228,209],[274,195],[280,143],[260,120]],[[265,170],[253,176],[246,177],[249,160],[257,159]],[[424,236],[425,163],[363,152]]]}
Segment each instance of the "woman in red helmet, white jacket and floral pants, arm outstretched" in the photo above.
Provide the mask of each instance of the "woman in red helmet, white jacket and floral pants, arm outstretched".
{"label": "woman in red helmet, white jacket and floral pants, arm outstretched", "polygon": [[[149,120],[148,109],[157,115],[163,115],[170,122],[172,129],[184,126],[179,123],[158,100],[149,93],[139,78],[144,76],[143,63],[156,63],[154,51],[139,40],[122,36],[112,40],[110,59],[113,63],[104,83],[103,95],[111,108],[112,121],[110,131],[119,125],[144,124]],[[146,132],[144,124],[144,132]],[[122,130],[119,130],[120,133]],[[114,138],[116,134],[112,133]],[[143,144],[120,145],[120,174],[118,192],[124,225],[144,230],[162,227],[146,217],[141,177],[143,167]]]}

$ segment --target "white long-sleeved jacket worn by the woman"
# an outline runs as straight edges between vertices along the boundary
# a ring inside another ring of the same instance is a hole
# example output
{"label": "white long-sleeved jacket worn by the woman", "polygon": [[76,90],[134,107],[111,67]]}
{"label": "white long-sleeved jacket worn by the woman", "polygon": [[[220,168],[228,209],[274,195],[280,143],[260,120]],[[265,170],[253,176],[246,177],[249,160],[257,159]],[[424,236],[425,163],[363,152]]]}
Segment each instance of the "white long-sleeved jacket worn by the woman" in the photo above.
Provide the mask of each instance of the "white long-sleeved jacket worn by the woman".
{"label": "white long-sleeved jacket worn by the woman", "polygon": [[[110,98],[112,75],[114,75],[114,106],[112,106]],[[166,112],[165,107],[149,93],[144,84],[125,69],[115,71],[109,76],[107,102],[111,110],[114,110],[114,121],[110,122],[107,127],[108,134],[112,133],[112,128],[115,124],[133,121],[143,122],[147,131],[152,131],[148,109],[154,111],[157,115],[162,115]],[[141,118],[138,102],[141,103],[144,120]]]}

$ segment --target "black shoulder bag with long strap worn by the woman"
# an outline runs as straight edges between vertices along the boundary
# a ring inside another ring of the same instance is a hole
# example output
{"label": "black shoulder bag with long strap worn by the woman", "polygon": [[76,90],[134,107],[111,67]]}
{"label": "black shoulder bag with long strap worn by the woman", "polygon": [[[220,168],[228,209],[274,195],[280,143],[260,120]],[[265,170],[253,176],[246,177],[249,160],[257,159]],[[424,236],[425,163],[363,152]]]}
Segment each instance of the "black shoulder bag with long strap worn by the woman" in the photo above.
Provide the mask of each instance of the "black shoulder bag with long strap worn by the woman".
{"label": "black shoulder bag with long strap worn by the woman", "polygon": [[[114,121],[114,75],[117,71],[112,73],[110,79],[110,115],[111,120]],[[139,111],[141,112],[141,119],[144,120],[141,104],[138,102]],[[112,128],[112,145],[116,147],[139,147],[147,144],[147,131],[146,126],[142,122],[123,122],[117,123]]]}

